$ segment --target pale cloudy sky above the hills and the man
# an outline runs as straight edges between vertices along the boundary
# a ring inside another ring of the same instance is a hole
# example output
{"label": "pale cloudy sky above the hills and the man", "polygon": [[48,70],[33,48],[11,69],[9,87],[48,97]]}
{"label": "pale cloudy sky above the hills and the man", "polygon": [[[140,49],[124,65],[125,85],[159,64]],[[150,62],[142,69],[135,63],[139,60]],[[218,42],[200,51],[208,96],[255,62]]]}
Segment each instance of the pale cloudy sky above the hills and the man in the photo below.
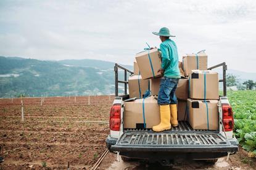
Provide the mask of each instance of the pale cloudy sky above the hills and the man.
{"label": "pale cloudy sky above the hills and the man", "polygon": [[256,1],[0,1],[0,56],[97,59],[133,64],[152,31],[168,27],[186,53],[206,50],[209,66],[256,72]]}

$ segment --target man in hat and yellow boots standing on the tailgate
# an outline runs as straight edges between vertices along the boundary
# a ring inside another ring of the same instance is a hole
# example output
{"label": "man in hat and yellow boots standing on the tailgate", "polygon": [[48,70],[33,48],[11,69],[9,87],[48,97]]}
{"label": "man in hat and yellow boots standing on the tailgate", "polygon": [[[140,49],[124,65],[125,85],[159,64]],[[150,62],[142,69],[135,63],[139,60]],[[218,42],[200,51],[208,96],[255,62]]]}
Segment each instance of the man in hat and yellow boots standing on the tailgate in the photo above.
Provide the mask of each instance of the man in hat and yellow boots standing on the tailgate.
{"label": "man in hat and yellow boots standing on the tailgate", "polygon": [[169,37],[168,28],[161,28],[159,33],[153,34],[160,37],[160,51],[162,52],[162,64],[158,72],[161,72],[160,89],[157,102],[160,104],[160,124],[153,126],[153,131],[164,131],[171,129],[171,126],[178,126],[177,120],[177,98],[175,90],[180,79],[180,69],[178,67],[178,52],[174,41]]}

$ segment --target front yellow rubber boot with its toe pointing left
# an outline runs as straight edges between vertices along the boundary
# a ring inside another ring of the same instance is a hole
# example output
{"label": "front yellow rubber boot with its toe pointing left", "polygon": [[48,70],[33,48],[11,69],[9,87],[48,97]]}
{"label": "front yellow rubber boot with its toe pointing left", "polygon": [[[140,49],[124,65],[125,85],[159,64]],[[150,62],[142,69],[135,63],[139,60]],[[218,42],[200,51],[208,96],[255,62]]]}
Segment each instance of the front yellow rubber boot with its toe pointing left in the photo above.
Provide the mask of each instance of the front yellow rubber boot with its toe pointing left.
{"label": "front yellow rubber boot with its toe pointing left", "polygon": [[160,105],[160,120],[161,122],[157,126],[153,126],[153,131],[164,131],[171,129],[171,123],[170,123],[171,115],[170,115],[170,106],[168,104],[166,105]]}

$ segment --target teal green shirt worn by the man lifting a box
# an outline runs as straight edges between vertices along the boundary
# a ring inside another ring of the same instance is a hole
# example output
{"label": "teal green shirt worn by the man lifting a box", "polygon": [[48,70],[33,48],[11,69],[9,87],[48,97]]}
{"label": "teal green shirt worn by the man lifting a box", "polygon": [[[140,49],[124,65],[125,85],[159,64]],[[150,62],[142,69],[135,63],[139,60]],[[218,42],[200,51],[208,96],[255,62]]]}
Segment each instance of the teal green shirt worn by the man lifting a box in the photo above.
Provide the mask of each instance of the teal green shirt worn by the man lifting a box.
{"label": "teal green shirt worn by the man lifting a box", "polygon": [[160,44],[162,52],[161,68],[164,69],[163,75],[173,79],[180,79],[179,58],[177,46],[174,41],[167,39]]}

